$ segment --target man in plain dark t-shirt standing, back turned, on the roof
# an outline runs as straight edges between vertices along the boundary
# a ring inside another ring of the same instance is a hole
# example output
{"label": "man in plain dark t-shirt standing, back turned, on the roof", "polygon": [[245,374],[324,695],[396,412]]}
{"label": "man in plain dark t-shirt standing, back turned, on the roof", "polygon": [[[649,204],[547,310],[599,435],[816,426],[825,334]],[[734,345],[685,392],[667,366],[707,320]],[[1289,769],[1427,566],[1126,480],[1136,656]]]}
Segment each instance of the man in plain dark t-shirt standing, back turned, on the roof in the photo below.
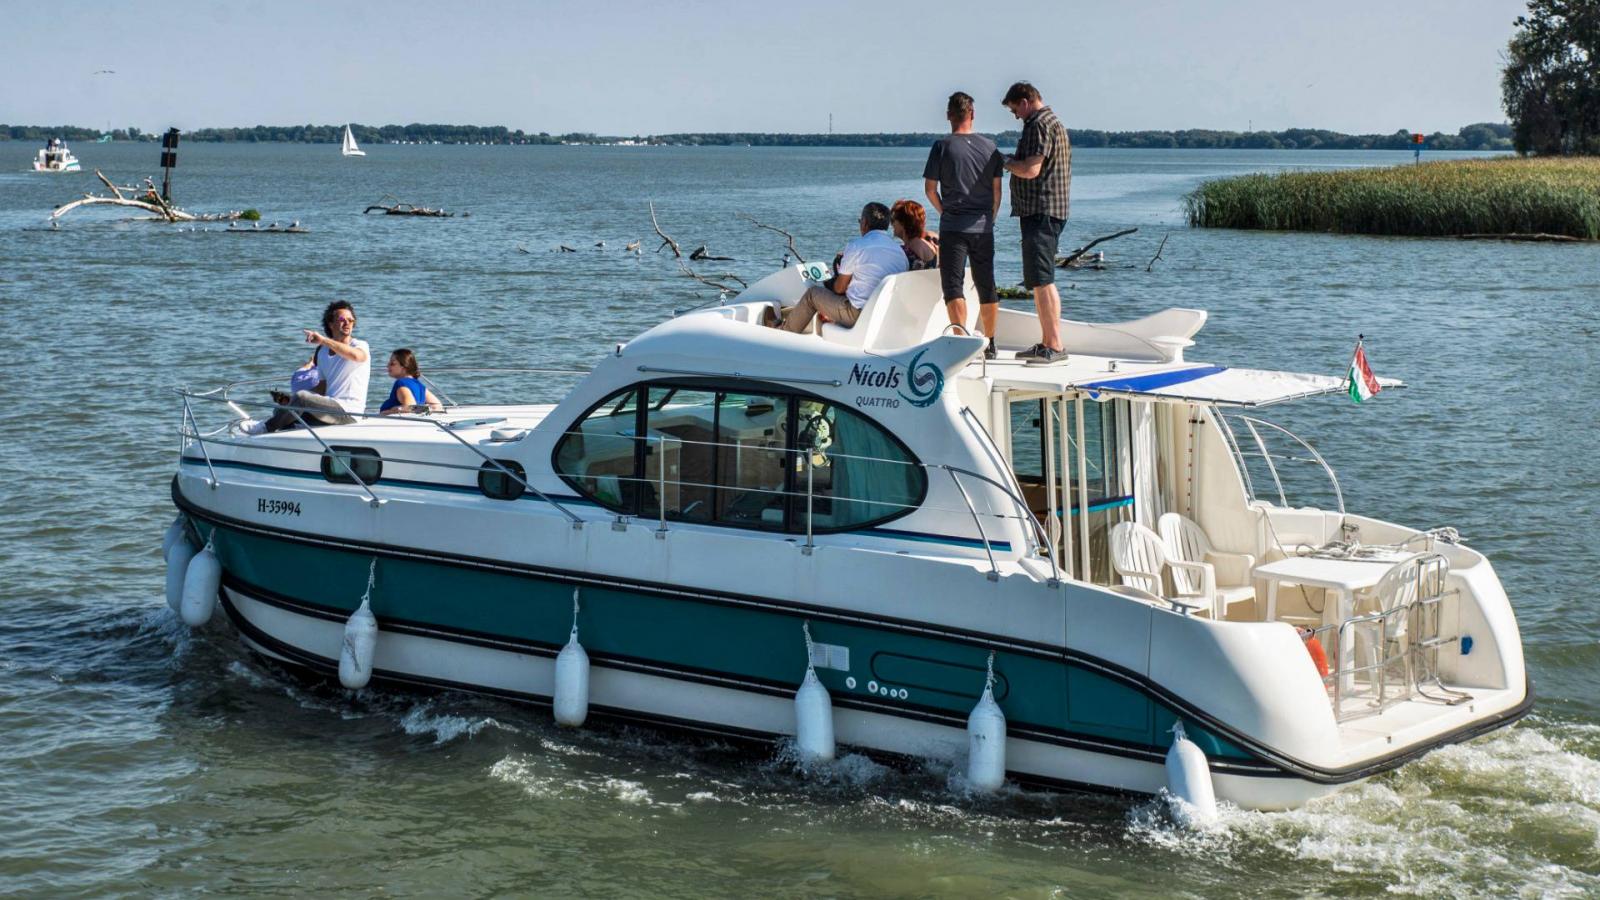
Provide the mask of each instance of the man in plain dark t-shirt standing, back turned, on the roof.
{"label": "man in plain dark t-shirt standing, back turned, on the roof", "polygon": [[939,282],[950,323],[966,328],[966,261],[978,288],[978,327],[995,357],[1000,293],[995,290],[995,216],[1000,213],[1000,173],[1005,160],[995,143],[973,135],[973,98],[955,91],[944,110],[950,133],[934,141],[922,170],[928,202],[939,210]]}

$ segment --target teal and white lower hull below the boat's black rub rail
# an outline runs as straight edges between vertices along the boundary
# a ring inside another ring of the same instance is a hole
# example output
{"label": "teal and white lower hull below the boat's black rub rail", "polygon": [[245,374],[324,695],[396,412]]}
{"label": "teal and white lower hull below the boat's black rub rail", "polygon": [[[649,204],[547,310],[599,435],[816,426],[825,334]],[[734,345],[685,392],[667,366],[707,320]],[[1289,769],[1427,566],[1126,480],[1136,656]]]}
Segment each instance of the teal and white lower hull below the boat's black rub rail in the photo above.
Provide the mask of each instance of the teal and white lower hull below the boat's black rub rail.
{"label": "teal and white lower hull below the boat's black rub rail", "polygon": [[1251,746],[1162,685],[1062,647],[776,599],[352,544],[216,516],[176,487],[179,508],[222,560],[224,609],[245,641],[314,671],[336,671],[344,620],[376,557],[378,681],[547,705],[578,588],[597,714],[768,741],[789,737],[806,660],[800,629],[808,625],[819,642],[850,649],[840,668],[818,668],[834,697],[840,743],[958,761],[984,660],[995,652],[997,695],[1008,716],[1008,778],[1046,788],[1162,791],[1163,738],[1181,717],[1206,751],[1218,798],[1250,809],[1296,807],[1525,711],[1442,735],[1405,759],[1307,770]]}

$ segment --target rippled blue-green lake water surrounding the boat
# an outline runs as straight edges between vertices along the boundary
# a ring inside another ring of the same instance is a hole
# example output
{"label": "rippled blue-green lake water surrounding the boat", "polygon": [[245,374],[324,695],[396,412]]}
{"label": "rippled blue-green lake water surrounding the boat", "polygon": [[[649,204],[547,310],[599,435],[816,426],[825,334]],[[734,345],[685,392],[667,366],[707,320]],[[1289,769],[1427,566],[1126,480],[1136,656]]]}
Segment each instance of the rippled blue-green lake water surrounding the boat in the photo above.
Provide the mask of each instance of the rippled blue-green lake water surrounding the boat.
{"label": "rippled blue-green lake water surrounding the boat", "polygon": [[[162,599],[179,407],[165,389],[285,373],[331,298],[374,351],[429,365],[587,365],[747,280],[794,231],[830,258],[866,200],[920,197],[922,151],[186,144],[174,199],[304,235],[230,235],[51,207],[157,173],[152,144],[26,173],[0,144],[0,894],[1139,897],[1600,892],[1600,247],[1202,232],[1205,178],[1405,162],[1379,152],[1082,151],[1069,315],[1211,311],[1192,359],[1342,373],[1357,333],[1405,391],[1272,416],[1339,469],[1352,509],[1456,525],[1517,607],[1534,714],[1291,814],[1211,834],[1154,807],[1010,791],[950,761],[822,773],[648,730],[557,730],[491,700],[347,697],[198,633]],[[363,216],[386,195],[469,211]],[[1163,258],[1146,272],[1163,235]],[[595,248],[603,240],[605,248]],[[643,240],[643,253],[621,248]],[[566,243],[576,253],[560,253]],[[1000,277],[1019,279],[1016,224]],[[525,250],[525,251],[523,251]],[[453,394],[554,399],[555,384]],[[458,397],[462,399],[462,397]]]}

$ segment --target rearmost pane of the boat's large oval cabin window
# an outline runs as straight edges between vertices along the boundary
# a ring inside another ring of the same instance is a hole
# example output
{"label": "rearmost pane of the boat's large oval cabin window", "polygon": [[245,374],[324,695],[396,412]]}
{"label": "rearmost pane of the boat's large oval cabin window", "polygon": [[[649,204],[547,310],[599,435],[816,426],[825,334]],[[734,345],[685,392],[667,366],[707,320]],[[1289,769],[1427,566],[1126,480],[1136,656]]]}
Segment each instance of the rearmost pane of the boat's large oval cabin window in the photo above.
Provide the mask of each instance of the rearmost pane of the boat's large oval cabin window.
{"label": "rearmost pane of the boat's large oval cabin window", "polygon": [[[795,400],[795,448],[811,461],[811,522],[848,530],[910,512],[928,476],[904,445],[872,420],[822,400]],[[795,474],[795,516],[805,527],[805,466]]]}

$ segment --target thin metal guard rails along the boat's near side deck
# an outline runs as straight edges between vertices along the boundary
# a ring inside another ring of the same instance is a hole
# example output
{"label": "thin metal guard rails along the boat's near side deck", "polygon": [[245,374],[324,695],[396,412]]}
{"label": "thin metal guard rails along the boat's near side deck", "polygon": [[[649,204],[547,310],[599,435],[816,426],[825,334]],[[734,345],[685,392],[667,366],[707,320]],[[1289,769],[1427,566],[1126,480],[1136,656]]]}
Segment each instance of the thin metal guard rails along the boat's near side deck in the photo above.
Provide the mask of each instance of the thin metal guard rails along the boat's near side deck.
{"label": "thin metal guard rails along the boat's near side deck", "polygon": [[[488,372],[512,372],[512,370],[488,370]],[[552,372],[552,370],[515,370],[515,372]],[[563,372],[563,373],[566,373],[566,372]],[[208,471],[208,484],[213,488],[216,488],[221,484],[221,477],[218,476],[218,469],[216,469],[216,466],[214,466],[214,463],[211,460],[210,447],[242,447],[242,448],[251,448],[251,450],[258,450],[258,452],[266,450],[266,452],[272,452],[272,453],[291,453],[291,455],[317,456],[318,460],[333,458],[336,461],[344,461],[341,464],[341,469],[342,469],[341,471],[341,477],[349,477],[350,482],[355,484],[362,490],[362,493],[365,495],[366,501],[371,506],[374,506],[374,508],[382,506],[387,500],[382,498],[382,496],[379,496],[378,490],[374,490],[374,487],[376,488],[382,487],[381,485],[382,479],[378,479],[373,484],[368,484],[366,480],[363,480],[355,472],[354,460],[349,460],[350,455],[347,452],[336,450],[328,440],[323,440],[323,437],[318,434],[318,431],[322,428],[338,428],[338,426],[326,426],[326,424],[307,426],[306,418],[304,418],[306,415],[326,413],[328,410],[312,408],[312,407],[296,407],[293,404],[290,404],[290,405],[278,405],[278,404],[266,404],[266,402],[254,402],[254,400],[242,400],[242,399],[232,396],[232,391],[235,388],[270,384],[270,383],[278,383],[278,381],[280,381],[278,378],[243,380],[243,381],[235,381],[235,383],[230,383],[230,384],[227,384],[224,388],[216,388],[216,389],[211,389],[211,391],[187,391],[187,389],[176,391],[178,396],[182,399],[182,423],[179,426],[179,434],[181,434],[179,452],[184,453],[190,447],[197,447],[200,450],[200,458],[205,461],[206,471]],[[211,402],[211,404],[226,405],[234,413],[237,413],[240,418],[250,418],[250,410],[264,410],[264,412],[288,410],[290,413],[293,413],[296,423],[299,424],[299,428],[296,428],[294,431],[296,432],[298,431],[309,432],[310,437],[317,442],[318,448],[291,447],[291,445],[286,445],[286,444],[264,445],[262,442],[259,442],[259,440],[256,440],[253,437],[245,437],[245,436],[238,434],[235,431],[237,420],[230,420],[229,423],[226,423],[226,424],[222,424],[219,428],[214,428],[211,431],[202,431],[200,426],[198,426],[198,421],[197,421],[197,418],[194,415],[194,404],[195,402]],[[411,464],[411,466],[426,466],[426,468],[437,468],[437,469],[446,469],[446,471],[461,471],[461,472],[474,472],[474,474],[480,474],[485,469],[485,466],[491,466],[499,474],[502,474],[507,479],[514,480],[515,484],[522,485],[522,488],[526,490],[528,493],[533,493],[534,496],[538,496],[538,498],[544,500],[546,503],[555,506],[563,516],[566,516],[566,519],[573,524],[574,528],[581,528],[582,527],[584,519],[579,517],[576,512],[573,512],[571,509],[568,509],[558,500],[549,496],[546,492],[542,492],[538,487],[534,487],[526,476],[517,474],[509,466],[504,466],[502,461],[494,460],[493,456],[490,456],[488,453],[485,453],[483,450],[480,450],[474,442],[470,442],[470,440],[464,439],[461,434],[458,434],[458,429],[461,426],[466,426],[466,424],[478,424],[478,426],[482,426],[482,424],[493,424],[493,423],[486,423],[483,420],[453,421],[453,420],[448,418],[448,408],[451,408],[451,407],[446,407],[446,413],[443,413],[443,415],[440,415],[440,413],[424,413],[424,415],[410,415],[410,413],[405,413],[405,415],[344,413],[344,415],[347,415],[347,416],[350,416],[354,420],[358,420],[358,421],[362,421],[362,420],[378,420],[378,421],[381,421],[384,424],[411,423],[411,424],[416,424],[416,426],[429,426],[432,429],[445,432],[454,442],[461,444],[462,447],[466,447],[467,450],[470,450],[472,453],[475,453],[482,460],[480,464],[474,466],[474,464],[461,464],[461,463],[445,463],[445,461],[438,461],[438,460],[416,460],[416,458],[403,458],[403,456],[379,456],[379,460],[382,463],[386,463],[386,464],[390,464],[390,463],[392,464]],[[454,407],[454,408],[459,408],[459,407]],[[694,490],[723,490],[723,492],[738,492],[738,493],[765,493],[765,495],[773,495],[773,496],[779,496],[779,498],[794,498],[797,503],[803,501],[803,504],[805,504],[803,506],[805,543],[802,544],[802,552],[805,552],[805,554],[811,554],[814,551],[814,548],[816,548],[816,541],[814,541],[814,538],[816,538],[816,527],[818,527],[816,503],[819,500],[827,501],[829,504],[853,504],[854,503],[854,504],[866,504],[866,506],[870,506],[870,508],[875,508],[875,509],[877,508],[883,508],[883,509],[904,509],[904,511],[923,509],[923,511],[949,512],[949,514],[957,514],[957,516],[965,514],[966,517],[971,519],[971,522],[973,522],[973,525],[976,528],[976,540],[982,544],[984,554],[986,554],[986,557],[989,560],[989,578],[990,580],[997,580],[1000,577],[1000,565],[998,565],[998,560],[995,557],[995,549],[994,549],[994,544],[997,543],[997,540],[990,538],[990,533],[984,527],[984,522],[986,520],[1002,520],[1003,522],[1003,520],[1016,519],[1018,524],[1022,527],[1024,535],[1027,536],[1027,546],[1026,546],[1026,552],[1024,554],[1026,556],[1045,556],[1045,557],[1048,557],[1050,559],[1050,569],[1051,569],[1050,583],[1051,585],[1058,585],[1061,581],[1059,565],[1056,562],[1054,554],[1051,554],[1050,549],[1048,549],[1050,548],[1050,538],[1045,535],[1043,525],[1040,525],[1038,519],[1032,514],[1032,511],[1029,511],[1027,503],[1014,490],[1011,490],[1008,485],[1005,485],[1003,482],[1000,482],[997,479],[992,479],[992,477],[989,477],[989,476],[986,476],[982,472],[965,469],[962,466],[952,466],[952,464],[944,464],[944,463],[917,463],[917,461],[909,461],[909,460],[888,460],[888,458],[880,458],[880,456],[866,456],[866,455],[854,455],[854,453],[838,453],[838,452],[829,452],[826,447],[824,448],[818,448],[818,447],[797,448],[797,447],[787,447],[787,445],[784,445],[784,447],[771,447],[771,445],[765,445],[765,444],[691,440],[691,439],[682,439],[682,437],[667,436],[667,434],[629,436],[629,434],[597,434],[597,432],[586,432],[586,431],[568,431],[565,434],[576,434],[576,436],[582,436],[582,437],[589,437],[589,439],[606,439],[606,440],[616,440],[616,442],[624,442],[626,440],[626,442],[629,442],[629,445],[632,445],[632,444],[643,444],[646,447],[653,445],[653,447],[658,448],[659,456],[658,456],[658,463],[656,463],[656,474],[654,474],[654,477],[650,477],[650,476],[632,476],[632,474],[629,474],[629,476],[611,476],[611,474],[603,476],[603,477],[614,479],[618,484],[637,484],[637,485],[651,487],[651,488],[656,490],[656,519],[658,519],[656,533],[658,533],[658,536],[666,536],[667,535],[667,532],[669,532],[667,522],[669,520],[670,522],[694,522],[694,520],[686,520],[682,516],[669,516],[667,514],[667,501],[666,501],[666,498],[667,498],[667,487],[675,487],[675,488],[680,488],[680,490],[686,487],[686,488],[694,488]],[[805,488],[803,490],[798,490],[798,488],[797,490],[784,490],[784,488],[741,487],[741,485],[730,485],[730,484],[706,484],[706,482],[694,482],[694,480],[683,480],[683,479],[667,479],[666,477],[667,476],[666,456],[667,456],[669,447],[677,448],[678,452],[682,452],[683,447],[704,447],[704,448],[710,448],[710,450],[726,448],[726,450],[733,450],[734,453],[741,453],[741,452],[742,453],[749,453],[749,452],[782,453],[782,456],[784,456],[784,466],[786,468],[794,468],[797,472],[800,472],[803,469],[803,472],[805,472]],[[818,464],[813,460],[814,455],[819,455],[819,456],[826,458],[827,463]],[[346,460],[349,460],[349,461],[346,461]],[[818,474],[818,469],[830,466],[835,461],[840,461],[840,463],[858,461],[858,463],[870,463],[870,464],[910,466],[910,468],[918,468],[918,469],[925,471],[930,476],[933,476],[934,472],[941,472],[942,471],[946,476],[949,476],[950,484],[955,488],[955,493],[962,498],[962,506],[960,508],[939,508],[939,506],[914,504],[914,503],[902,503],[902,501],[883,500],[883,498],[840,496],[840,495],[834,493],[832,490],[829,490],[827,493],[818,493],[818,490],[816,490],[816,474]],[[584,476],[584,477],[595,477],[595,476]],[[1008,509],[1006,511],[998,511],[998,509],[994,509],[994,506],[989,506],[987,511],[981,512],[978,509],[978,503],[974,503],[974,498],[973,498],[973,495],[970,492],[970,487],[974,485],[974,484],[987,485],[989,488],[994,488],[994,490],[1000,492],[1000,495],[1003,496],[1003,503],[1005,503],[1005,506]],[[640,506],[640,509],[643,509],[643,506]],[[613,525],[622,524],[626,527],[626,522],[630,517],[632,517],[630,514],[613,512]],[[883,516],[874,516],[874,519],[883,519]],[[694,524],[699,524],[699,522],[694,522]],[[709,522],[707,520],[704,524],[715,524],[715,522]],[[870,519],[866,519],[864,524],[870,524]],[[827,527],[829,522],[824,522],[822,525]]]}

